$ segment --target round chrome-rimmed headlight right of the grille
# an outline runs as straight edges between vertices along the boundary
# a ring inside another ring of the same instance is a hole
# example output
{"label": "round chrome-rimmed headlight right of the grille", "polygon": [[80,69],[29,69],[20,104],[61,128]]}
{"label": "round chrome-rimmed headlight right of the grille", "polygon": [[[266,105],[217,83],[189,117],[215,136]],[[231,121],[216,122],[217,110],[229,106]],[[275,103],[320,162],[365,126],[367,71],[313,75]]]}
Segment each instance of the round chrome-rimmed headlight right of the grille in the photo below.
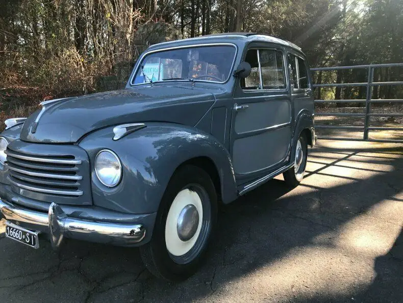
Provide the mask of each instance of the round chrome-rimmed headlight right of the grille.
{"label": "round chrome-rimmed headlight right of the grille", "polygon": [[95,157],[95,173],[99,181],[107,187],[116,186],[122,175],[118,156],[110,150],[102,150]]}

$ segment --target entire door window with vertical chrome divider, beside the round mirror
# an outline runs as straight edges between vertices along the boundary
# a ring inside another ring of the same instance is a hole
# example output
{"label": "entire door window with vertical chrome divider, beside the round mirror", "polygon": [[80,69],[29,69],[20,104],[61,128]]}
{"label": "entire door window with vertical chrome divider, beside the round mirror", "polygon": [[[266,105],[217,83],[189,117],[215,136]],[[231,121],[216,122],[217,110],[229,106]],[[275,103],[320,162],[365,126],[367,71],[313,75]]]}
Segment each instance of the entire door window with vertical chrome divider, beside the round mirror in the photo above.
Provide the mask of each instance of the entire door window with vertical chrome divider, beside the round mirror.
{"label": "entire door window with vertical chrome divider, beside the round mirror", "polygon": [[283,53],[281,51],[248,50],[245,61],[250,64],[252,69],[247,78],[241,79],[243,89],[286,88]]}

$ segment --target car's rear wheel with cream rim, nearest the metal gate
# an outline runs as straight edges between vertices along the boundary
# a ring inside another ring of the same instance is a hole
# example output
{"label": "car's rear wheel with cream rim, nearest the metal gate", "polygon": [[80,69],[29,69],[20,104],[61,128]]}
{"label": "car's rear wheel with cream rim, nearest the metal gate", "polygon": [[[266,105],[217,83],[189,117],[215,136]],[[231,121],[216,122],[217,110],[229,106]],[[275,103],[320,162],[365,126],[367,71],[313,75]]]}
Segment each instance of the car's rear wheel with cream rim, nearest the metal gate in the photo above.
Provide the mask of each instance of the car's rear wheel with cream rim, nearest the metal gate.
{"label": "car's rear wheel with cream rim, nearest the metal gate", "polygon": [[304,135],[300,135],[295,148],[294,167],[286,171],[284,181],[291,188],[297,187],[305,175],[308,158],[308,143]]}

